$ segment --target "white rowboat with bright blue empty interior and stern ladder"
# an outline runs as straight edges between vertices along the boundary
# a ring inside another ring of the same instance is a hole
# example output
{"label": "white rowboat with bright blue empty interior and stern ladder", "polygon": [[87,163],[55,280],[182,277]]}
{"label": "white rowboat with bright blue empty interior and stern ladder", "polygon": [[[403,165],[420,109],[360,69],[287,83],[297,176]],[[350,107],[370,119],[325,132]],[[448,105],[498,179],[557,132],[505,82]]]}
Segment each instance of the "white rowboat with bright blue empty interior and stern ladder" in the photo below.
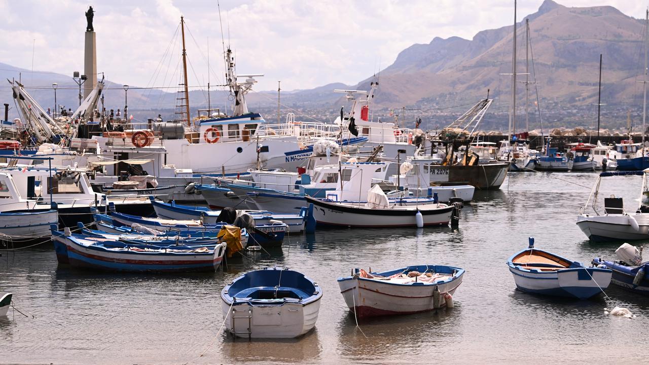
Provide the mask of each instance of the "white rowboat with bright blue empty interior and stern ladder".
{"label": "white rowboat with bright blue empty interior and stern ladder", "polygon": [[311,331],[323,291],[288,268],[241,275],[221,290],[225,327],[237,337],[293,338]]}

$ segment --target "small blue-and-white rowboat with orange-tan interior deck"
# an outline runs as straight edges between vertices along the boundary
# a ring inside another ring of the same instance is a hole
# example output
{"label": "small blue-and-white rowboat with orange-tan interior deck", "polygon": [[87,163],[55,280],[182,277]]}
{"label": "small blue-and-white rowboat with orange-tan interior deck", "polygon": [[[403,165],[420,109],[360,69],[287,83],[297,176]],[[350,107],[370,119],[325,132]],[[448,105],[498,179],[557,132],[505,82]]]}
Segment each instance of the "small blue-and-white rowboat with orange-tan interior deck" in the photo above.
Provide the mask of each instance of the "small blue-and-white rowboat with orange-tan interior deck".
{"label": "small blue-and-white rowboat with orange-tan interior deck", "polygon": [[507,264],[516,286],[524,292],[578,299],[587,299],[608,288],[613,273],[535,249],[532,237],[529,247],[510,257]]}

